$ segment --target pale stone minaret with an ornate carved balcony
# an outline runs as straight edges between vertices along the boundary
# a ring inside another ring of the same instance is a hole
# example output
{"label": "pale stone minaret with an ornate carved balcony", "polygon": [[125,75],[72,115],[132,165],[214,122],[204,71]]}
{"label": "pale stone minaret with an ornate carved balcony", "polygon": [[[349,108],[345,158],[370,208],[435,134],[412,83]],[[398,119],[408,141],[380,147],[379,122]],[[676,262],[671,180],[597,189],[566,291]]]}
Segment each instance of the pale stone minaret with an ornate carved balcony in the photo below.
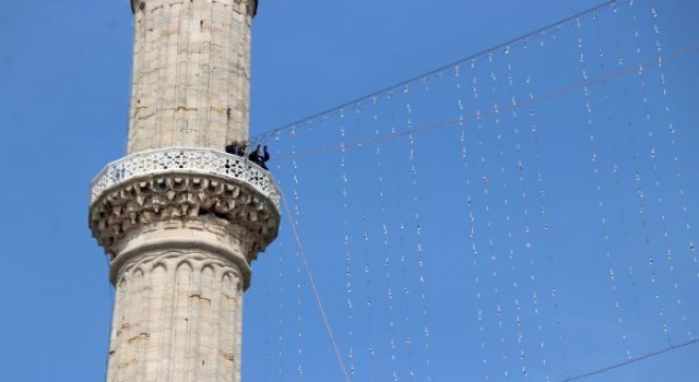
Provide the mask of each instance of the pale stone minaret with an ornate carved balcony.
{"label": "pale stone minaret with an ornate carved balcony", "polygon": [[108,382],[240,381],[242,293],[276,237],[249,135],[257,0],[131,0],[128,155],[92,183],[90,228],[116,287]]}

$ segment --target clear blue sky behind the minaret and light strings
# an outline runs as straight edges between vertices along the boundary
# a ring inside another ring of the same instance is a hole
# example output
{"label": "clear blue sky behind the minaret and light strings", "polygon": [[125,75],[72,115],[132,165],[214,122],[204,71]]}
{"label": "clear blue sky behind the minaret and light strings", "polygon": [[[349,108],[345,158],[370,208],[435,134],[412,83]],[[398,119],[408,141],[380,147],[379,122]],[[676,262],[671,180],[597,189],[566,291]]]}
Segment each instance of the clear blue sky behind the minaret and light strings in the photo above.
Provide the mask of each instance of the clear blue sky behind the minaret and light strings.
{"label": "clear blue sky behind the minaret and light strings", "polygon": [[[262,0],[253,26],[252,135],[601,2]],[[699,45],[699,3],[637,0],[636,13],[620,10],[614,19],[607,11],[579,28],[567,24],[532,40],[528,53],[521,45],[511,56],[499,50],[491,63],[482,58],[475,68],[460,67],[460,80],[452,68],[441,77],[412,84],[407,95],[382,97],[376,107],[350,107],[343,118],[334,114],[304,124],[295,139],[285,132],[268,141],[277,158],[294,151],[315,153],[387,136],[391,127],[406,129],[408,119],[413,128],[427,128],[470,117],[476,108],[493,110],[511,97],[525,99],[530,91],[553,94],[579,85],[583,71],[590,79],[608,76],[591,85],[588,96],[578,88],[536,103],[534,117],[528,107],[516,117],[510,111],[499,119],[488,116],[481,128],[471,119],[463,127],[425,129],[412,142],[403,135],[346,153],[273,163],[292,210],[298,211],[300,238],[343,360],[356,367],[355,381],[389,381],[393,372],[401,381],[426,381],[428,374],[448,382],[485,381],[485,375],[491,381],[541,381],[544,375],[560,381],[623,361],[627,350],[639,357],[689,341],[688,331],[699,334],[699,265],[688,246],[699,238],[699,53],[667,60],[662,70],[644,65],[641,73],[613,75],[656,57],[652,8],[660,15],[663,55]],[[638,14],[636,22],[632,14]],[[0,381],[104,378],[112,289],[105,255],[87,229],[87,191],[100,168],[125,153],[131,23],[126,0],[10,1],[0,13],[0,174],[5,176]],[[640,39],[633,38],[635,29],[642,32]],[[617,56],[626,62],[618,64]],[[513,85],[507,83],[508,73]],[[663,89],[667,96],[661,96]],[[460,99],[467,104],[462,112]],[[667,134],[671,121],[678,131],[675,143],[675,135]],[[532,123],[541,129],[536,142]],[[521,135],[513,133],[517,126]],[[498,135],[497,129],[507,133]],[[513,148],[518,142],[521,152]],[[652,150],[660,151],[660,159]],[[600,159],[591,160],[593,155]],[[522,178],[512,175],[519,160],[524,163]],[[419,167],[417,175],[412,166]],[[534,172],[543,174],[541,182]],[[522,192],[528,196],[519,198]],[[503,200],[510,201],[507,206]],[[253,266],[244,380],[343,381],[288,220],[284,216],[280,242]],[[524,246],[528,225],[531,251]],[[401,294],[405,288],[410,296]],[[389,289],[394,298],[387,297]],[[698,358],[695,344],[589,381],[695,381]],[[417,377],[411,379],[408,369]]]}

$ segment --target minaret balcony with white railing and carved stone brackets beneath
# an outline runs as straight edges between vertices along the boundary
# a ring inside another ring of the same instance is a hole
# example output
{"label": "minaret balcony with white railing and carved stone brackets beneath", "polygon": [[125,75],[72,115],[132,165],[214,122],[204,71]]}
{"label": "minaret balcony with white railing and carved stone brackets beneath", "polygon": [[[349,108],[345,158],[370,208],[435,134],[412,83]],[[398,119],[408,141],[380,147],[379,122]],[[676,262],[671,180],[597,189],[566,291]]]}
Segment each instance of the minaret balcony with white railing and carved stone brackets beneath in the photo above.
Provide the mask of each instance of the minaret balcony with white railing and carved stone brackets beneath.
{"label": "minaret balcony with white railing and carved stone brackets beneath", "polygon": [[109,164],[93,182],[90,227],[116,256],[132,234],[177,226],[235,237],[248,262],[277,235],[280,190],[245,158],[168,148]]}

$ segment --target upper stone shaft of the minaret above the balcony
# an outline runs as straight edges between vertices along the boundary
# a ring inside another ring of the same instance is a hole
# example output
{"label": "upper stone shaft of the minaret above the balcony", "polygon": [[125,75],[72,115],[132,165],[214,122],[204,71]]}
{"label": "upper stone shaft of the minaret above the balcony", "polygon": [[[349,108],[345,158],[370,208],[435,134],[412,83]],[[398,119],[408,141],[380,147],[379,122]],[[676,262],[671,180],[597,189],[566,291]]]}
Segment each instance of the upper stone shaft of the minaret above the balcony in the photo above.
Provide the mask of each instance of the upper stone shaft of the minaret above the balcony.
{"label": "upper stone shaft of the minaret above the balcony", "polygon": [[129,154],[246,138],[256,0],[131,1]]}

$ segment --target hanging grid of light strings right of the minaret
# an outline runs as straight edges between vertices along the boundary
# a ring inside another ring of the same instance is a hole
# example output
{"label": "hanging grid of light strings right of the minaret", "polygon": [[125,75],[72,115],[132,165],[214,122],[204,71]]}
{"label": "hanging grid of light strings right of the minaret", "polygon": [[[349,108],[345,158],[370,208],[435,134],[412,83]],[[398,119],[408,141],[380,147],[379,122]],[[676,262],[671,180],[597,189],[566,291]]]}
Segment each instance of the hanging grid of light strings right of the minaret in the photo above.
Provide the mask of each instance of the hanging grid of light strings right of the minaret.
{"label": "hanging grid of light strings right of the minaret", "polygon": [[260,136],[289,215],[256,267],[248,379],[562,381],[696,342],[691,153],[654,4]]}

